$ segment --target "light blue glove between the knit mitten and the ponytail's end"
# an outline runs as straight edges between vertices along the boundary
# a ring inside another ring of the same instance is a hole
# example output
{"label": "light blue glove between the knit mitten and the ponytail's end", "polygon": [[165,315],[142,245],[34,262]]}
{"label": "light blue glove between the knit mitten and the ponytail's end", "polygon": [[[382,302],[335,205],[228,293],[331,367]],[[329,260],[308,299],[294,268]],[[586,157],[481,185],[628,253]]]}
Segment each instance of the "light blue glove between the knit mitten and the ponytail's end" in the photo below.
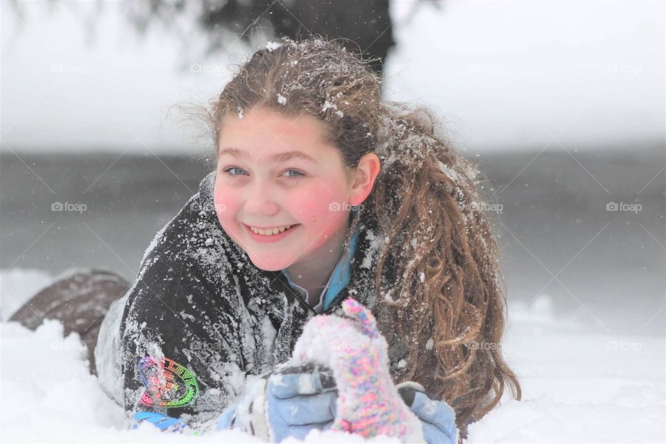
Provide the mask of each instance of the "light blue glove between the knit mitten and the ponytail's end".
{"label": "light blue glove between the knit mitten and the ponytail's end", "polygon": [[417,382],[402,382],[396,388],[411,412],[421,420],[423,437],[428,444],[458,443],[456,412],[449,404],[435,400]]}

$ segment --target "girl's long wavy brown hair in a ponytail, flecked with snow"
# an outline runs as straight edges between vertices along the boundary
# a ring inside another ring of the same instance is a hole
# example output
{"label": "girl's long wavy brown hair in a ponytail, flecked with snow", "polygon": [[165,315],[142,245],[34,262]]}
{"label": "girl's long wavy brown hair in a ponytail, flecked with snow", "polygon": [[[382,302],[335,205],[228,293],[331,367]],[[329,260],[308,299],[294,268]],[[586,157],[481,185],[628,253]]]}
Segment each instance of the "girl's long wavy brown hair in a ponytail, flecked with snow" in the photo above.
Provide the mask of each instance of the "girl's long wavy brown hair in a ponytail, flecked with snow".
{"label": "girl's long wavy brown hair in a ponytail, flecked with snow", "polygon": [[[262,106],[321,119],[348,167],[377,153],[382,168],[363,212],[385,236],[375,285],[386,315],[378,321],[387,339],[409,338],[393,379],[419,382],[452,404],[463,428],[495,407],[506,384],[521,396],[502,359],[506,298],[477,193],[481,175],[436,134],[434,113],[382,101],[380,83],[341,44],[282,38],[256,51],[212,103],[213,137],[217,143],[226,114]],[[393,282],[382,278],[385,267]]]}

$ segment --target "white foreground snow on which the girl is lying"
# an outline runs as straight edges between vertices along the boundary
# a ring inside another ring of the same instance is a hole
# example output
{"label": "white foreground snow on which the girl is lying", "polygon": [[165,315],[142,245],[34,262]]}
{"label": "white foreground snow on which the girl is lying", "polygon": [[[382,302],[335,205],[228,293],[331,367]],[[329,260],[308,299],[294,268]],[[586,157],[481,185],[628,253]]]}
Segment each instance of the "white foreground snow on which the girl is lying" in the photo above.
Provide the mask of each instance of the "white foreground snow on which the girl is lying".
{"label": "white foreground snow on which the girl is lying", "polygon": [[[43,271],[3,272],[0,398],[3,442],[260,442],[238,432],[170,436],[152,425],[122,429],[123,413],[89,375],[76,335],[46,321],[35,332],[6,320],[53,278]],[[663,443],[665,340],[612,336],[575,316],[555,318],[552,300],[510,302],[504,354],[523,398],[508,395],[470,426],[469,443]],[[293,440],[296,441],[296,440]],[[314,432],[306,442],[363,442]],[[376,438],[370,442],[398,442]]]}

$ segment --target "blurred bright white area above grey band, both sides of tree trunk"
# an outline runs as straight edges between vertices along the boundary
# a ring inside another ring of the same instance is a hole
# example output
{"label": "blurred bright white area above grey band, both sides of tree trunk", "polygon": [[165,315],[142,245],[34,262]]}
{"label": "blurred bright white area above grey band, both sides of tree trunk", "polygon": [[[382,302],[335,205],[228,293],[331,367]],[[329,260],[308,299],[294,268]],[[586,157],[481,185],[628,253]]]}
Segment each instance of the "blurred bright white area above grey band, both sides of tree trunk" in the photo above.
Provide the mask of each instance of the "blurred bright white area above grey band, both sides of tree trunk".
{"label": "blurred bright white area above grey band, both sides of tree trunk", "polygon": [[[166,110],[207,103],[249,50],[197,56],[203,40],[191,37],[191,23],[155,20],[139,37],[123,10],[146,13],[141,1],[105,3],[96,22],[86,22],[95,2],[19,3],[20,23],[1,3],[3,151],[210,149]],[[432,106],[460,148],[663,141],[663,1],[447,1],[441,10],[423,4],[405,22],[413,6],[393,1],[399,46],[386,66],[387,97]]]}

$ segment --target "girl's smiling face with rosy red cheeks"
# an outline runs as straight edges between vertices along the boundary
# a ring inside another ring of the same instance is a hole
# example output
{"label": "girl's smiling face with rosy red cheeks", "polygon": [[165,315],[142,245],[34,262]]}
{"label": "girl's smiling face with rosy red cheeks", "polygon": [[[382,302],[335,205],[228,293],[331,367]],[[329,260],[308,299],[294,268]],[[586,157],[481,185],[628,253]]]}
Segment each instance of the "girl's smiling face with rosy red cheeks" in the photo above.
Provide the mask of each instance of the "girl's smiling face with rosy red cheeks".
{"label": "girl's smiling face with rosy red cheeks", "polygon": [[338,250],[333,246],[343,242],[350,205],[372,188],[359,193],[341,152],[324,142],[324,130],[314,117],[264,108],[222,121],[215,209],[222,228],[258,268],[320,262],[322,251]]}

